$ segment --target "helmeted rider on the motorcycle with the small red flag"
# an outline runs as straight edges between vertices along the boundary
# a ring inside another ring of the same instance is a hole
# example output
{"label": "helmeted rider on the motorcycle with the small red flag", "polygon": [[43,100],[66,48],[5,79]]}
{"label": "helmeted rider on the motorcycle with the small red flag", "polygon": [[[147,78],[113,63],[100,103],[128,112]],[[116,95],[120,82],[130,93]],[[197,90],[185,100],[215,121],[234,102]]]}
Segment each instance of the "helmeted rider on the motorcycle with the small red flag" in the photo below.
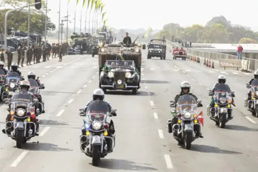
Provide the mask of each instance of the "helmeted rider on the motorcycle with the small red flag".
{"label": "helmeted rider on the motorcycle with the small red flag", "polygon": [[[197,98],[196,95],[190,93],[191,85],[190,85],[190,83],[189,83],[188,81],[183,81],[183,82],[181,83],[180,87],[181,87],[181,91],[180,91],[179,94],[177,94],[177,95],[175,96],[175,98],[174,98],[174,103],[173,103],[174,105],[176,105],[176,103],[177,103],[179,97],[182,96],[182,95],[185,95],[185,94],[190,94],[190,95],[192,95],[192,96],[195,97],[196,101],[198,100],[198,98]],[[202,107],[202,104],[201,104],[201,103],[198,103],[198,107]],[[172,127],[174,124],[177,123],[177,119],[178,119],[178,116],[177,116],[176,112],[173,112],[172,114],[173,114],[173,118],[168,121],[168,123],[171,123],[171,127]],[[168,125],[168,124],[167,124],[167,125]],[[169,127],[169,126],[168,126],[168,127]],[[171,132],[170,132],[170,131],[171,131]],[[172,133],[172,130],[170,130],[170,131],[169,131],[169,133]],[[196,133],[196,136],[199,136],[200,138],[203,138],[203,136],[201,135],[201,130],[197,130],[197,131],[199,131],[199,132]],[[177,132],[174,131],[174,132],[173,132],[173,135],[176,136],[176,135],[177,135]]]}

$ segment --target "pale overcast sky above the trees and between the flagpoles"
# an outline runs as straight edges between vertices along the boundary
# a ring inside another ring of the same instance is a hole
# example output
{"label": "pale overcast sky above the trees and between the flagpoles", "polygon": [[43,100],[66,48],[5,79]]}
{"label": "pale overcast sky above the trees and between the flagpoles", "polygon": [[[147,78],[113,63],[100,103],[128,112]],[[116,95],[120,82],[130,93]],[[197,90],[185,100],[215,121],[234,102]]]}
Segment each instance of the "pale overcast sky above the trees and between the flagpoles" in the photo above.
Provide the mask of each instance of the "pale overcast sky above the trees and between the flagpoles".
{"label": "pale overcast sky above the trees and between the flagpoles", "polygon": [[[66,16],[68,0],[61,0],[61,17]],[[69,15],[74,18],[77,11],[76,26],[80,27],[82,1],[75,8],[76,0],[69,4]],[[223,15],[232,24],[257,27],[258,0],[102,0],[107,11],[107,25],[116,29],[162,29],[164,24],[178,23],[181,26],[205,25],[212,17]],[[53,23],[58,24],[59,0],[48,0],[52,10],[49,13]],[[83,9],[85,21],[86,8]],[[254,21],[255,20],[255,21]],[[69,24],[74,26],[74,20]],[[87,24],[88,25],[88,24]],[[82,23],[84,28],[85,23]]]}

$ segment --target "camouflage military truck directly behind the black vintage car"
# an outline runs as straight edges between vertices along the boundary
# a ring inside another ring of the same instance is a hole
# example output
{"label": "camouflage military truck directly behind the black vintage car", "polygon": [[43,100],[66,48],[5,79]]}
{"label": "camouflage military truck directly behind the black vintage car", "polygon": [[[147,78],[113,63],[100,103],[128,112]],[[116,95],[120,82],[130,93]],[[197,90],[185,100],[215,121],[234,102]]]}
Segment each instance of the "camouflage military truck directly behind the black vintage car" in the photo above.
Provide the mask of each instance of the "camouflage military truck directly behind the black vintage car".
{"label": "camouflage military truck directly behind the black vintage car", "polygon": [[[102,47],[98,53],[99,57],[99,77],[101,72],[106,71],[106,61],[107,60],[115,60],[119,50],[123,48],[124,54],[128,58],[128,60],[133,60],[135,64],[135,68],[137,73],[139,74],[141,81],[141,65],[142,65],[142,52],[141,48],[138,44],[131,44],[128,46],[124,46],[122,44],[108,44]],[[101,80],[99,80],[99,87],[101,88]],[[138,84],[138,89],[140,88],[140,82]]]}

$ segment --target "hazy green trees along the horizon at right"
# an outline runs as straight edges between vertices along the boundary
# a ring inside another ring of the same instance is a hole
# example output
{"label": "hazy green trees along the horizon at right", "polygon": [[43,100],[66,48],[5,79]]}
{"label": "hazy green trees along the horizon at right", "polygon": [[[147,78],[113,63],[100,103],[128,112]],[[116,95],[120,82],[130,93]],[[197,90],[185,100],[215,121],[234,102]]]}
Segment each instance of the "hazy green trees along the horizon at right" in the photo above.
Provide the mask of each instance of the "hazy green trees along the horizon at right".
{"label": "hazy green trees along the horizon at right", "polygon": [[194,24],[182,28],[178,24],[166,24],[157,34],[158,38],[163,36],[172,41],[187,40],[194,43],[238,43],[242,38],[245,38],[243,42],[258,41],[258,33],[240,25],[231,26],[223,16],[213,17],[206,26]]}

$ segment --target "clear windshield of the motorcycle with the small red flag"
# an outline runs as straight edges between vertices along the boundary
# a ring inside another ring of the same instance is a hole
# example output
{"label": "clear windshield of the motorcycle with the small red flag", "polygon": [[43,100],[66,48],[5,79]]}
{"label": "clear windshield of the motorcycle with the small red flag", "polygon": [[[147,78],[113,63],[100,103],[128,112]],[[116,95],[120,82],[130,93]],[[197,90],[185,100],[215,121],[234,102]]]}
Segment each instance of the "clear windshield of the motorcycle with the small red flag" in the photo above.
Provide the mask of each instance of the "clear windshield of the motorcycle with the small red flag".
{"label": "clear windshield of the motorcycle with the small red flag", "polygon": [[197,101],[194,96],[190,94],[181,95],[177,100],[177,112],[183,113],[189,111],[194,113],[197,110]]}

